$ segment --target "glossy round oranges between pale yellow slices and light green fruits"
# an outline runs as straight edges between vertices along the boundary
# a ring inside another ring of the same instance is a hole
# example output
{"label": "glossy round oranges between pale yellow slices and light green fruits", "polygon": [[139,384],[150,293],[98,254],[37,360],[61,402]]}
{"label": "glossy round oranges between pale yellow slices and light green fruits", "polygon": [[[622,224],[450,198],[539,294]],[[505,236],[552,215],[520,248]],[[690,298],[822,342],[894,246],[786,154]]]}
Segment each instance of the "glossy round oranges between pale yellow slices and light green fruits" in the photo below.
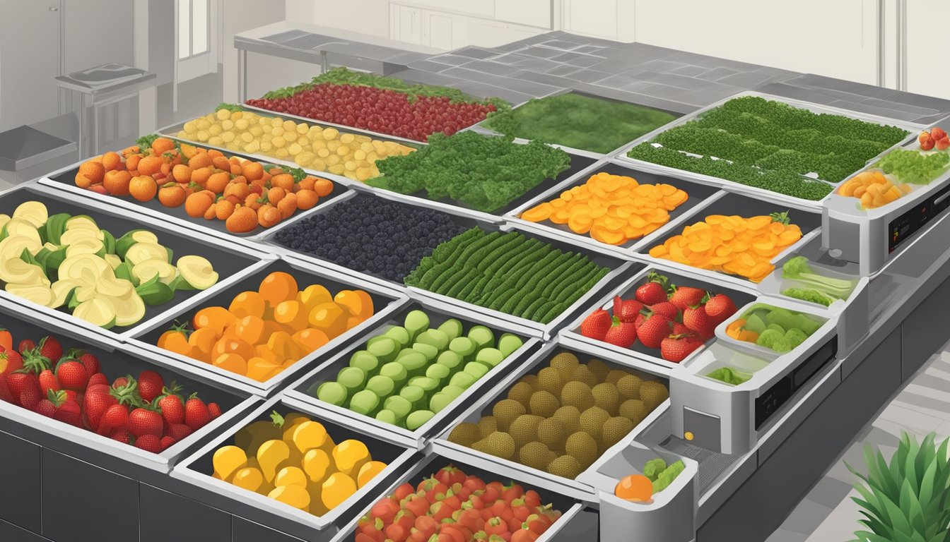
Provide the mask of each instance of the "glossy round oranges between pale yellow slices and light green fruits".
{"label": "glossy round oranges between pale yellow slices and light green fruits", "polygon": [[314,284],[300,291],[293,275],[275,271],[227,308],[199,309],[192,327],[172,327],[158,346],[265,382],[372,314],[372,298],[363,290],[333,296]]}

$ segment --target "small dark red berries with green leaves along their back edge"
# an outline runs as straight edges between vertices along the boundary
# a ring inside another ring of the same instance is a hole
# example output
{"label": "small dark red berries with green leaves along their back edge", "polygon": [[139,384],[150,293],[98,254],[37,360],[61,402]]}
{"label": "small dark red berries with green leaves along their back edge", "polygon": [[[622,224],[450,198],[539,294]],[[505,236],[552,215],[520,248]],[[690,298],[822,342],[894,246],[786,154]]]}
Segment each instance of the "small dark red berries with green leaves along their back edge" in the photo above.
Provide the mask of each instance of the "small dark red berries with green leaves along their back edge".
{"label": "small dark red berries with green leaves along their back edge", "polygon": [[501,100],[478,100],[447,86],[407,84],[345,67],[334,67],[310,83],[273,90],[247,104],[417,141],[436,132],[450,136],[509,107]]}

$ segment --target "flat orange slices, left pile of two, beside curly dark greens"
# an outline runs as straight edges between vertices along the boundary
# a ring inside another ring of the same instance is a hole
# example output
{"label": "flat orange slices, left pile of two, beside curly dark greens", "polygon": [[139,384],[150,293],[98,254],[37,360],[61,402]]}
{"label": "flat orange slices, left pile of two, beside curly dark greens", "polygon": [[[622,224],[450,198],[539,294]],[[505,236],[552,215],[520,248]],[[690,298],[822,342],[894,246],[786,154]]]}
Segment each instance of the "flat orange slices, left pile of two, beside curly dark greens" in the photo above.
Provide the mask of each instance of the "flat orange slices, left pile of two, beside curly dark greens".
{"label": "flat orange slices, left pile of two, beside curly dark greens", "polygon": [[575,234],[590,234],[608,245],[622,245],[650,234],[670,220],[670,211],[689,196],[670,184],[639,184],[636,178],[600,172],[522,213],[529,222],[567,224]]}

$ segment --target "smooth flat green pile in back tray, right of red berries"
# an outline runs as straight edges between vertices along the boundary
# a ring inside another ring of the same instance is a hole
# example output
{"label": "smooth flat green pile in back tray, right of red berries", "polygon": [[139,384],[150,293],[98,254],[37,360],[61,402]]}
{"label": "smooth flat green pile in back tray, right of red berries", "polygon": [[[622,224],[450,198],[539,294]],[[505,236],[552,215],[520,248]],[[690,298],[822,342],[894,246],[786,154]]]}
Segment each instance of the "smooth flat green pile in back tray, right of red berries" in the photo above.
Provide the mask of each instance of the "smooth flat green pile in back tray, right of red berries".
{"label": "smooth flat green pile in back tray, right of red berries", "polygon": [[482,125],[506,136],[606,154],[674,119],[649,107],[571,92],[490,113]]}

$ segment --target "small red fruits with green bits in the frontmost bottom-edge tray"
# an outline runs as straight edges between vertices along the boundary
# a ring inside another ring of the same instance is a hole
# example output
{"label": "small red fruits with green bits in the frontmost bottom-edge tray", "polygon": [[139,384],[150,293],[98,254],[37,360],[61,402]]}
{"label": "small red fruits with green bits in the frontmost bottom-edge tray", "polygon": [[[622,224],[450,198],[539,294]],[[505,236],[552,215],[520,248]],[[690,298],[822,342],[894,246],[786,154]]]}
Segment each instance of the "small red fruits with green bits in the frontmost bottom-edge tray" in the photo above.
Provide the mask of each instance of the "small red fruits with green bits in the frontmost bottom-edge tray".
{"label": "small red fruits with green bits in the frontmost bottom-edge tray", "polygon": [[355,542],[534,542],[561,517],[534,490],[485,483],[449,465],[380,499],[356,527]]}

